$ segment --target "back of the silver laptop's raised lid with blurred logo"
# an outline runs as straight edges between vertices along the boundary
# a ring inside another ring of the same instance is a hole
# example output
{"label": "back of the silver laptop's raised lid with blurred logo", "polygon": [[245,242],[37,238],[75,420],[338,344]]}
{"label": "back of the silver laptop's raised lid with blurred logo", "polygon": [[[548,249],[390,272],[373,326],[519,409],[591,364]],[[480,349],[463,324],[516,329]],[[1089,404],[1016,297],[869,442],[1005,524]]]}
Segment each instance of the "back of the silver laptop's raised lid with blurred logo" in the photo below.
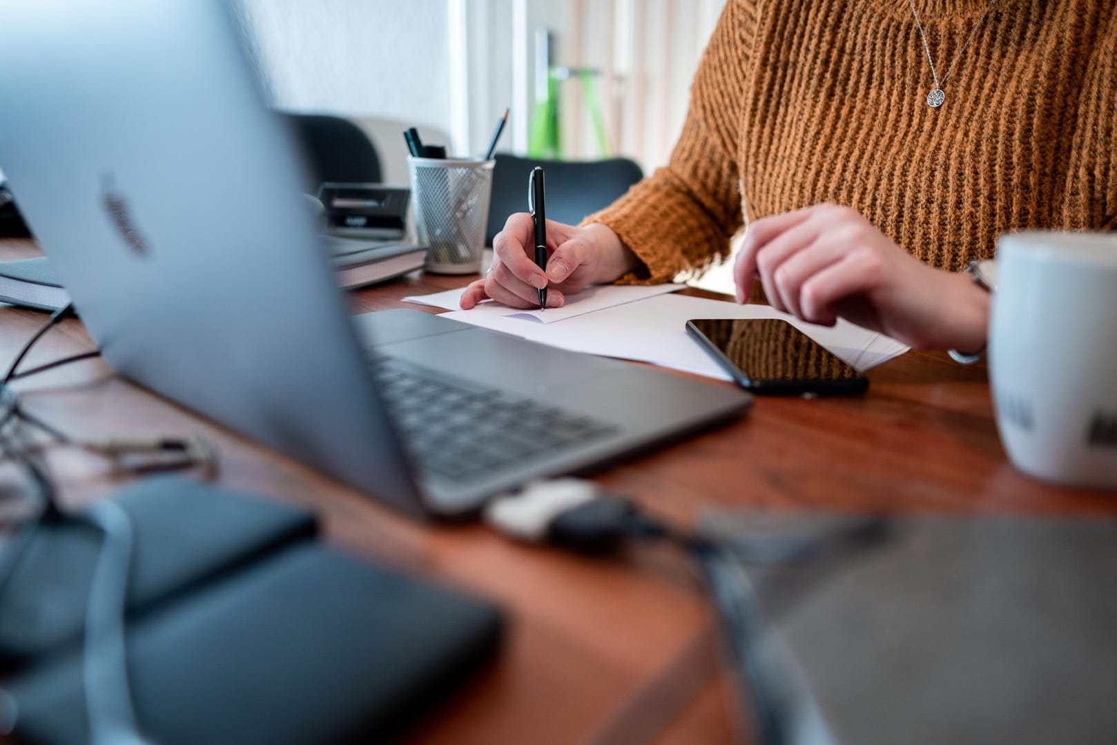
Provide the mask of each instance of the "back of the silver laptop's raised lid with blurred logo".
{"label": "back of the silver laptop's raised lid with blurred logo", "polygon": [[0,163],[121,373],[414,512],[227,3],[0,4]]}

